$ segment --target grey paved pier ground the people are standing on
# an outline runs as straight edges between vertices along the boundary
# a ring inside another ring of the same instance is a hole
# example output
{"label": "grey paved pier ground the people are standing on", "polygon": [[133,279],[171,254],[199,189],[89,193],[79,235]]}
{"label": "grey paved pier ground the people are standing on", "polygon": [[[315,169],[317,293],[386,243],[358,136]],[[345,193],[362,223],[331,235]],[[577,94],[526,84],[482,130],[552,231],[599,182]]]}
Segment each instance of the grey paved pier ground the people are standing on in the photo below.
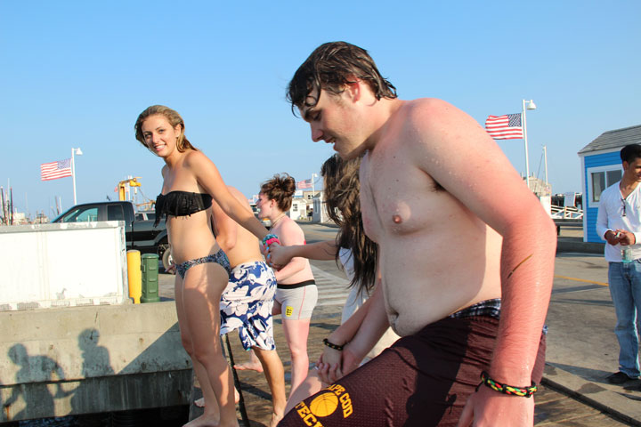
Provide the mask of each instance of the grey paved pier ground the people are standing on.
{"label": "grey paved pier ground the people are standing on", "polygon": [[[304,227],[309,242],[327,238],[327,230],[314,235],[316,227]],[[572,224],[562,227],[558,247],[555,290],[548,312],[548,363],[536,394],[534,423],[566,427],[641,425],[641,391],[637,390],[641,381],[624,387],[605,381],[616,370],[618,347],[612,331],[614,313],[605,283],[603,245],[584,244],[582,229]],[[337,277],[334,284],[319,284],[319,302],[341,301],[337,285],[346,283],[341,282],[342,273],[321,262],[312,262],[312,270],[317,280],[318,271],[323,272],[321,282],[330,278],[326,270]],[[342,305],[337,303],[314,310],[308,340],[310,361],[318,359],[322,339],[340,324],[341,310]],[[287,372],[287,344],[279,317],[275,318],[274,334]],[[229,334],[229,341],[236,363],[247,361],[235,333]],[[264,375],[253,371],[238,371],[237,375],[245,410],[241,414],[239,407],[239,423],[269,425],[272,406]],[[241,415],[247,416],[248,423],[243,423]]]}

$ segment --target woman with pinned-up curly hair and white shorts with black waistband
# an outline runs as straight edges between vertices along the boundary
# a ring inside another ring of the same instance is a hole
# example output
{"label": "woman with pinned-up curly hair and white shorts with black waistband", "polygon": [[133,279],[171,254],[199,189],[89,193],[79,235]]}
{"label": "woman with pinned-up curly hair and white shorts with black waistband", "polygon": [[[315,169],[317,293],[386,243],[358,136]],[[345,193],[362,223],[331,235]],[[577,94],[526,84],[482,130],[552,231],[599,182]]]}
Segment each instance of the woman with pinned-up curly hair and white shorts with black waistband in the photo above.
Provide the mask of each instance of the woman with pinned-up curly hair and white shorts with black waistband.
{"label": "woman with pinned-up curly hair and white shorts with black waistband", "polygon": [[[296,191],[294,178],[287,173],[274,175],[264,182],[256,207],[261,218],[272,221],[272,233],[280,236],[283,245],[304,245],[303,229],[285,214],[291,207]],[[278,281],[273,314],[282,314],[285,339],[291,356],[290,392],[303,382],[309,369],[307,335],[318,289],[309,261],[293,258],[275,272]]]}

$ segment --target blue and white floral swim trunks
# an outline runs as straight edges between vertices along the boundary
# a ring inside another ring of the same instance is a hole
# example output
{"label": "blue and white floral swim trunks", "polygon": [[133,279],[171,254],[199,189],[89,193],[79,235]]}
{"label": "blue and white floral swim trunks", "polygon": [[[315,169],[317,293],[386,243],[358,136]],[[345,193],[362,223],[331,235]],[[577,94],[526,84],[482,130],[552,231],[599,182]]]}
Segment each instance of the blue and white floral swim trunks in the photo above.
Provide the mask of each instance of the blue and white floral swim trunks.
{"label": "blue and white floral swim trunks", "polygon": [[221,330],[239,330],[243,348],[274,350],[272,307],[276,277],[264,262],[244,262],[231,270],[221,296]]}

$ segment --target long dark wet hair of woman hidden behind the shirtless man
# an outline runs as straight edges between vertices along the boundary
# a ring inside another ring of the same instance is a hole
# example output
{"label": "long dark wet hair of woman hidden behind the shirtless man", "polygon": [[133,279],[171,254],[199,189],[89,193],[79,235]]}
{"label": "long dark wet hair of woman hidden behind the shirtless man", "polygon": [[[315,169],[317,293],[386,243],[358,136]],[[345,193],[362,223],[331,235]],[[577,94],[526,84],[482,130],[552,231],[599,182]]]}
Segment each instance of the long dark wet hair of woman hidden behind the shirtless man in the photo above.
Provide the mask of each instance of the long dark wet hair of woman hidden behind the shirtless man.
{"label": "long dark wet hair of woman hidden behind the shirtless man", "polygon": [[[354,277],[350,286],[368,292],[376,285],[377,244],[365,236],[361,215],[361,157],[343,160],[337,154],[321,166],[324,179],[325,207],[339,231],[336,244],[352,251]],[[339,257],[337,253],[337,264]],[[340,264],[339,264],[340,265]]]}

